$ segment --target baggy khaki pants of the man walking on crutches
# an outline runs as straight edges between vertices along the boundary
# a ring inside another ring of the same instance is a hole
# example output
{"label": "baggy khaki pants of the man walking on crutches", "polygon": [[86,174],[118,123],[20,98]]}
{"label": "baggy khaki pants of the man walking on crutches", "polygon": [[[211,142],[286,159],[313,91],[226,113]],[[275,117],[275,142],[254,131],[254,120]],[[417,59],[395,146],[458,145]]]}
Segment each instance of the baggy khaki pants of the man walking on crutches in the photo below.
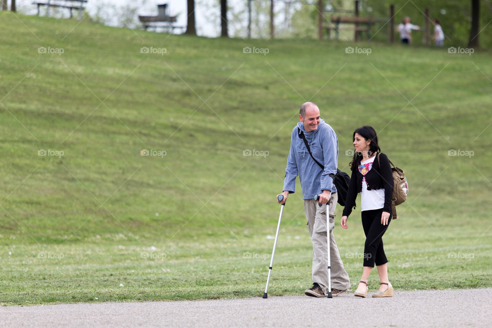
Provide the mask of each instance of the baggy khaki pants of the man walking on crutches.
{"label": "baggy khaki pants of the man walking on crutches", "polygon": [[[335,208],[338,194],[332,193],[328,211],[330,215],[330,264],[332,274],[332,288],[338,290],[350,289],[350,279],[343,268],[338,253],[337,243],[333,235],[335,228]],[[326,204],[318,206],[314,199],[304,199],[304,211],[308,220],[308,229],[313,243],[313,282],[317,282],[324,293],[328,288],[328,264],[326,244]]]}

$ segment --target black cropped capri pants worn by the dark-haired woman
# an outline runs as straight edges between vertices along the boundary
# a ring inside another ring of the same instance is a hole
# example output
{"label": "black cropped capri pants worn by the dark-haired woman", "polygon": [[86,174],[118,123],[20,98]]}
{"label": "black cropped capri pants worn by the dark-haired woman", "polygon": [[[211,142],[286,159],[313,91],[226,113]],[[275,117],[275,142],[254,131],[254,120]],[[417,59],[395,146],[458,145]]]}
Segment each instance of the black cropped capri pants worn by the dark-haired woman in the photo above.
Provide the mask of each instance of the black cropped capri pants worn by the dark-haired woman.
{"label": "black cropped capri pants worn by the dark-haired woman", "polygon": [[383,234],[389,227],[392,214],[389,213],[388,224],[383,226],[381,224],[381,214],[383,209],[362,211],[362,227],[365,233],[364,244],[364,267],[374,268],[376,265],[382,265],[388,262],[383,248]]}

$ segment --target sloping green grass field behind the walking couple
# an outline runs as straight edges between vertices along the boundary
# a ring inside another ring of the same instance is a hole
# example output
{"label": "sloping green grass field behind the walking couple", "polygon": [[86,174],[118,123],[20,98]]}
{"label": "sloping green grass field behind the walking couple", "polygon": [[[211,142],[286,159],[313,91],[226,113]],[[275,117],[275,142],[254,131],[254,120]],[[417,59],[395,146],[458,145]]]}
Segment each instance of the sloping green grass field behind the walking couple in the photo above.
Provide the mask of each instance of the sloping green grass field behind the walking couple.
{"label": "sloping green grass field behind the walking couple", "polygon": [[[384,237],[395,288],[492,286],[489,52],[207,39],[4,12],[0,30],[1,304],[262,295],[274,197],[307,100],[337,131],[340,169],[354,129],[372,125],[407,174]],[[301,198],[298,185],[270,295],[312,283]],[[348,225],[335,234],[355,286],[357,210]]]}

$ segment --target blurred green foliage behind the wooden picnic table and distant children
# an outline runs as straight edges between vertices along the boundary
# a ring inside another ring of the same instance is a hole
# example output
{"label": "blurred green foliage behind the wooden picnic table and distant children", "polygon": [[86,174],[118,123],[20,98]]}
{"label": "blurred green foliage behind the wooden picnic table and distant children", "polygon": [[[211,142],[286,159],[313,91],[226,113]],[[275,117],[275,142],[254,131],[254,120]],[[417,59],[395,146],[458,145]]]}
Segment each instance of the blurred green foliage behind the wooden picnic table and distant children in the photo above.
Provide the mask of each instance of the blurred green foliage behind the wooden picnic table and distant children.
{"label": "blurred green foliage behind the wooden picnic table and distant children", "polygon": [[[419,25],[421,28],[425,27],[425,20],[430,19],[429,30],[432,36],[434,26],[432,21],[439,19],[442,29],[445,34],[444,44],[445,46],[462,46],[468,45],[470,39],[470,30],[472,22],[472,7],[473,1],[479,2],[480,0],[462,1],[462,0],[435,0],[432,2],[426,0],[360,0],[359,15],[362,17],[376,17],[378,21],[371,30],[372,41],[387,42],[388,40],[388,20],[389,20],[389,6],[395,6],[395,25],[397,26],[405,16],[412,18],[412,23]],[[480,25],[478,31],[480,32],[480,46],[483,48],[492,48],[492,28],[487,28],[486,25],[492,20],[492,0],[481,0],[480,3]],[[429,9],[429,17],[424,16],[425,8]],[[354,1],[352,0],[336,0],[325,1],[325,9],[331,11],[324,11],[325,25],[330,25],[329,20],[332,15],[353,15],[351,13],[334,12],[334,10],[354,10]],[[315,5],[303,5],[292,15],[292,31],[293,37],[317,37],[316,27],[318,24],[318,11]],[[395,27],[396,27],[395,26]],[[349,39],[353,37],[353,30],[350,31],[353,26],[346,25],[345,30],[341,32],[348,36]],[[326,32],[324,32],[326,33]],[[423,31],[415,31],[413,34],[414,44],[420,45],[424,40]],[[396,38],[398,33],[396,33]],[[340,37],[340,39],[345,39]]]}

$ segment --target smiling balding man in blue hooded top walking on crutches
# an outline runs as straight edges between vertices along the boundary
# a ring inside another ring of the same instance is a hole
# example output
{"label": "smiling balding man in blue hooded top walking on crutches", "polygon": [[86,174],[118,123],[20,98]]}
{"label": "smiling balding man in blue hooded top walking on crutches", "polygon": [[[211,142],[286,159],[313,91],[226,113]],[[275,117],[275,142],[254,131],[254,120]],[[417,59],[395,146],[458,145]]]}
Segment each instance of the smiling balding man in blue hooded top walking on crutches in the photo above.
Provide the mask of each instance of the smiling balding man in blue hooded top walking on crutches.
{"label": "smiling balding man in blue hooded top walking on crutches", "polygon": [[[299,120],[300,122],[292,131],[291,149],[281,194],[283,200],[280,203],[284,203],[289,194],[295,192],[296,177],[299,176],[304,211],[313,243],[313,287],[304,291],[308,296],[326,296],[328,288],[326,212],[329,212],[332,295],[338,296],[350,289],[350,279],[343,268],[333,236],[334,213],[338,200],[337,190],[333,183],[333,176],[337,173],[338,138],[332,127],[320,119],[319,108],[314,103],[302,104],[299,110]],[[321,169],[309,154],[301,134],[308,140],[313,157],[323,165],[324,169]],[[318,201],[314,200],[316,195],[320,195]],[[330,201],[329,205],[326,204],[328,201]],[[318,206],[318,202],[323,205]]]}

